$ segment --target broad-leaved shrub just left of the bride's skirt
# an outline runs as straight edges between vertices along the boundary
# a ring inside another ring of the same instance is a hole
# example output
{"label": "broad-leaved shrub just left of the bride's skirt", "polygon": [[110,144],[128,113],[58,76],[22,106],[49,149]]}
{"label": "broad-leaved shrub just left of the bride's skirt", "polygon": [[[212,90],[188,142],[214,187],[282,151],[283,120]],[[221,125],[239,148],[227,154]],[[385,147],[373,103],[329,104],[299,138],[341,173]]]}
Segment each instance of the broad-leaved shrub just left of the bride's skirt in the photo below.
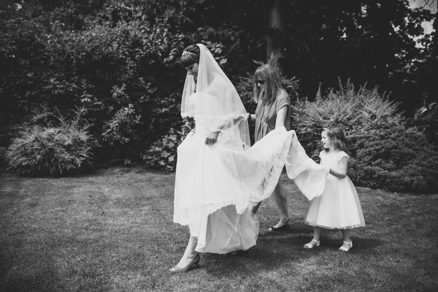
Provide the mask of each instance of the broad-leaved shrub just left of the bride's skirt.
{"label": "broad-leaved shrub just left of the bride's skirt", "polygon": [[170,128],[166,135],[146,150],[143,155],[146,165],[164,171],[174,171],[177,163],[177,148],[192,128],[194,128],[194,122],[189,118],[184,119],[180,130]]}

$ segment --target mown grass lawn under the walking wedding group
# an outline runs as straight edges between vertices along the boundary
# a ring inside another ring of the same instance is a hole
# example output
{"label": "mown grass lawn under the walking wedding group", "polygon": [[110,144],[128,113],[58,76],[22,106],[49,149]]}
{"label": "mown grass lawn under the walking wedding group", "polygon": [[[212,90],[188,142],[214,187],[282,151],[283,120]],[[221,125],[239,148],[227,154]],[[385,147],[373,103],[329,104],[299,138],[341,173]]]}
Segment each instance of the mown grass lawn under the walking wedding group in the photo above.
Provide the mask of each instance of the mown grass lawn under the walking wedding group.
{"label": "mown grass lawn under the walking wedding group", "polygon": [[62,179],[0,176],[0,291],[437,291],[438,195],[358,188],[366,226],[353,248],[305,225],[308,201],[284,174],[292,229],[273,199],[257,212],[257,245],[236,256],[202,254],[170,274],[189,234],[172,222],[174,174],[111,168]]}

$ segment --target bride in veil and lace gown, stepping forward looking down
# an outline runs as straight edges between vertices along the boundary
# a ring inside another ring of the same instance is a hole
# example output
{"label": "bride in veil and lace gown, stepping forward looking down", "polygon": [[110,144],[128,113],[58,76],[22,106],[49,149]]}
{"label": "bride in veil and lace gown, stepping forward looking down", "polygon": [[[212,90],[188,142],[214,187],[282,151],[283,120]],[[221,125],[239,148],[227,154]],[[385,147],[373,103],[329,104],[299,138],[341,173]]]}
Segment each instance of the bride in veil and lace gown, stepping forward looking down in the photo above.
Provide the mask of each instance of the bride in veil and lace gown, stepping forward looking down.
{"label": "bride in veil and lace gown, stepping forward looking down", "polygon": [[258,220],[248,207],[271,195],[285,163],[288,176],[308,197],[322,193],[326,176],[295,132],[284,127],[250,147],[248,113],[204,45],[188,46],[181,64],[187,70],[181,115],[193,117],[195,129],[178,147],[173,219],[188,225],[190,238],[171,272],[197,267],[202,252],[225,254],[254,246]]}

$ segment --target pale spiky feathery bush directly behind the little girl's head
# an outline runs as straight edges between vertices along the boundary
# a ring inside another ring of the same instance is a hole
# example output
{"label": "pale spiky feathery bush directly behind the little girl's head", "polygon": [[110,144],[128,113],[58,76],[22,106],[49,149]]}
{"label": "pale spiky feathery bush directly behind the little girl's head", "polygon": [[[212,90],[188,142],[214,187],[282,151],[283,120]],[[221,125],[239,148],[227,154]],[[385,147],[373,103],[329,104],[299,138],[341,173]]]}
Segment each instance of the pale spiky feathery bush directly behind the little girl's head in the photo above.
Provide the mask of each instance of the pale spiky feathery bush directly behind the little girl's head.
{"label": "pale spiky feathery bush directly behind the little girl's head", "polygon": [[381,96],[377,88],[355,90],[348,80],[339,80],[337,91],[331,89],[326,97],[317,92],[314,102],[298,99],[292,110],[292,125],[303,147],[313,158],[321,151],[322,128],[339,125],[349,138],[349,151],[356,153],[355,139],[369,130],[392,128],[400,125],[403,118],[397,113],[398,104]]}

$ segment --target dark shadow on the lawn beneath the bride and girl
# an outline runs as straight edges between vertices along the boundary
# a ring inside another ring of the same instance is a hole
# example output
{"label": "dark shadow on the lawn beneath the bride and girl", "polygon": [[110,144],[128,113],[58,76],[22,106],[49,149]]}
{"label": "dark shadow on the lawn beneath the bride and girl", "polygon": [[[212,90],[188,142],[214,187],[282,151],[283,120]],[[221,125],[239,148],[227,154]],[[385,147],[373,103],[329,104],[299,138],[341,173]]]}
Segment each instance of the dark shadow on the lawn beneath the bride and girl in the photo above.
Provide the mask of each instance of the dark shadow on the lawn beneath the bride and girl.
{"label": "dark shadow on the lawn beneath the bride and girl", "polygon": [[[307,231],[306,234],[297,231]],[[259,235],[257,245],[237,255],[201,254],[198,269],[210,277],[221,279],[227,276],[246,277],[248,273],[279,271],[284,267],[300,268],[303,263],[318,262],[326,256],[347,257],[355,254],[376,254],[383,242],[377,238],[351,237],[353,248],[348,253],[338,250],[342,245],[340,230],[325,230],[321,246],[305,249],[303,245],[312,239],[309,228],[298,228],[286,232],[266,232]],[[252,272],[253,271],[253,272]]]}

